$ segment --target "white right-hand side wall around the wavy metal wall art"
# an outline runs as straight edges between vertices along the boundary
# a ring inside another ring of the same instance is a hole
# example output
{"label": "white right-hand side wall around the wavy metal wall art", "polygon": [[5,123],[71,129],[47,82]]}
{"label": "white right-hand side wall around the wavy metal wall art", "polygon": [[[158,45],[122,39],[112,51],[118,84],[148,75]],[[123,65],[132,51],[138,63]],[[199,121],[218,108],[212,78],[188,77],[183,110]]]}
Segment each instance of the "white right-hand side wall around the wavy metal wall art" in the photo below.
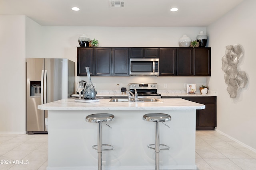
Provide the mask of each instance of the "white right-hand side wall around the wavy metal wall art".
{"label": "white right-hand side wall around the wavy metal wall art", "polygon": [[[230,137],[256,149],[256,57],[255,57],[255,0],[245,0],[220,20],[207,27],[209,45],[212,47],[212,76],[209,80],[211,90],[218,92],[217,129]],[[222,57],[226,45],[241,44],[244,59],[239,68],[248,76],[248,85],[238,92],[235,99],[230,98],[224,82]]]}

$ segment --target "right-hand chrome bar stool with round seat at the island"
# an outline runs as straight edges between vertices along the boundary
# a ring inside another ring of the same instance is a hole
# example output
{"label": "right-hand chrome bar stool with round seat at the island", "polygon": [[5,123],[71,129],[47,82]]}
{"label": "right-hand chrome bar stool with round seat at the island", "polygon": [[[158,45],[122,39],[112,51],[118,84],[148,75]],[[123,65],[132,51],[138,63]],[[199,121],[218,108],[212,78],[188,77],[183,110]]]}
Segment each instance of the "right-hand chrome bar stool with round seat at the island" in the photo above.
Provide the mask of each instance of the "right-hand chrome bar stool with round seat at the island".
{"label": "right-hand chrome bar stool with round seat at the island", "polygon": [[[169,150],[170,147],[167,145],[160,144],[160,138],[159,138],[159,122],[162,122],[164,124],[165,121],[170,121],[171,116],[164,113],[148,113],[143,115],[144,121],[149,122],[155,122],[155,143],[148,145],[148,148],[154,149],[156,152],[156,170],[159,170],[159,152],[160,150]],[[166,125],[166,124],[164,124]],[[168,125],[166,125],[169,127]],[[170,127],[169,127],[170,128]],[[155,145],[155,148],[151,147]],[[160,149],[160,146],[163,146],[163,149]]]}

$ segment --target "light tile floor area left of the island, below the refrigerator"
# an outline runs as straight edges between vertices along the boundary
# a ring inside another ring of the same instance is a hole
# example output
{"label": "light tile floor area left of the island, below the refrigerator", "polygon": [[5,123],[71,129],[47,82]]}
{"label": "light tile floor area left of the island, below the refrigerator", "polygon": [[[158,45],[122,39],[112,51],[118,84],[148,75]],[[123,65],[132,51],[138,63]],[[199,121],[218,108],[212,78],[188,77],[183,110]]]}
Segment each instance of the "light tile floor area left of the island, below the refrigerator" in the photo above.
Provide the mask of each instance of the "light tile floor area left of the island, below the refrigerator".
{"label": "light tile floor area left of the island, below the refrigerator", "polygon": [[47,165],[47,134],[0,134],[0,170],[46,170]]}

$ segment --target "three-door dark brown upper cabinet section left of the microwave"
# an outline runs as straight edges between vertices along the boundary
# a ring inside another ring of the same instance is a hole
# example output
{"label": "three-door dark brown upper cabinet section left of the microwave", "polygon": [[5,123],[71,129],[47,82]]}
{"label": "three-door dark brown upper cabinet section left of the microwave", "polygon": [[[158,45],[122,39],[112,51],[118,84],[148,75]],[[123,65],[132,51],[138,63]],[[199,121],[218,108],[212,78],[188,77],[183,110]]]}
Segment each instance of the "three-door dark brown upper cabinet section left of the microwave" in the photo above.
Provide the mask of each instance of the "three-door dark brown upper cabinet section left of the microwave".
{"label": "three-door dark brown upper cabinet section left of the microwave", "polygon": [[77,75],[129,76],[129,48],[77,47]]}

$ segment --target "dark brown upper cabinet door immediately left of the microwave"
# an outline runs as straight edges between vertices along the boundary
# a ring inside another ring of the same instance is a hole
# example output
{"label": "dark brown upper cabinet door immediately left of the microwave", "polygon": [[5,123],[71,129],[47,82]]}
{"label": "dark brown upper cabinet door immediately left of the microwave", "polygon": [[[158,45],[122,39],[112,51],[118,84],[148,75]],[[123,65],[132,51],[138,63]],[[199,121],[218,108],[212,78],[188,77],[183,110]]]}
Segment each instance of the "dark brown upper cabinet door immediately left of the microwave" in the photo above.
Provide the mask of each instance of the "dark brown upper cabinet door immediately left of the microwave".
{"label": "dark brown upper cabinet door immediately left of the microwave", "polygon": [[113,56],[113,76],[129,75],[129,49],[128,48],[112,48]]}

